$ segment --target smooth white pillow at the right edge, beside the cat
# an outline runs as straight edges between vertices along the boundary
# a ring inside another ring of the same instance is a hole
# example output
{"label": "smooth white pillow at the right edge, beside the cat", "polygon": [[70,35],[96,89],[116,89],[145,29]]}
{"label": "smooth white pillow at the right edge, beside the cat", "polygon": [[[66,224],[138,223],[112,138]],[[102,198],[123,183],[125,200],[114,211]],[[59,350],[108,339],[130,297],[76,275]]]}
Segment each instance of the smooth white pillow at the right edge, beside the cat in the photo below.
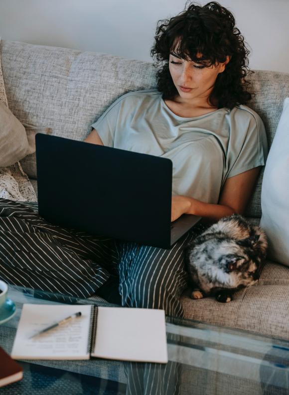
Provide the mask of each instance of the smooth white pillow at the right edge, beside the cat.
{"label": "smooth white pillow at the right edge, beside the cat", "polygon": [[289,266],[289,98],[269,151],[261,192],[260,226],[268,236],[268,257]]}

